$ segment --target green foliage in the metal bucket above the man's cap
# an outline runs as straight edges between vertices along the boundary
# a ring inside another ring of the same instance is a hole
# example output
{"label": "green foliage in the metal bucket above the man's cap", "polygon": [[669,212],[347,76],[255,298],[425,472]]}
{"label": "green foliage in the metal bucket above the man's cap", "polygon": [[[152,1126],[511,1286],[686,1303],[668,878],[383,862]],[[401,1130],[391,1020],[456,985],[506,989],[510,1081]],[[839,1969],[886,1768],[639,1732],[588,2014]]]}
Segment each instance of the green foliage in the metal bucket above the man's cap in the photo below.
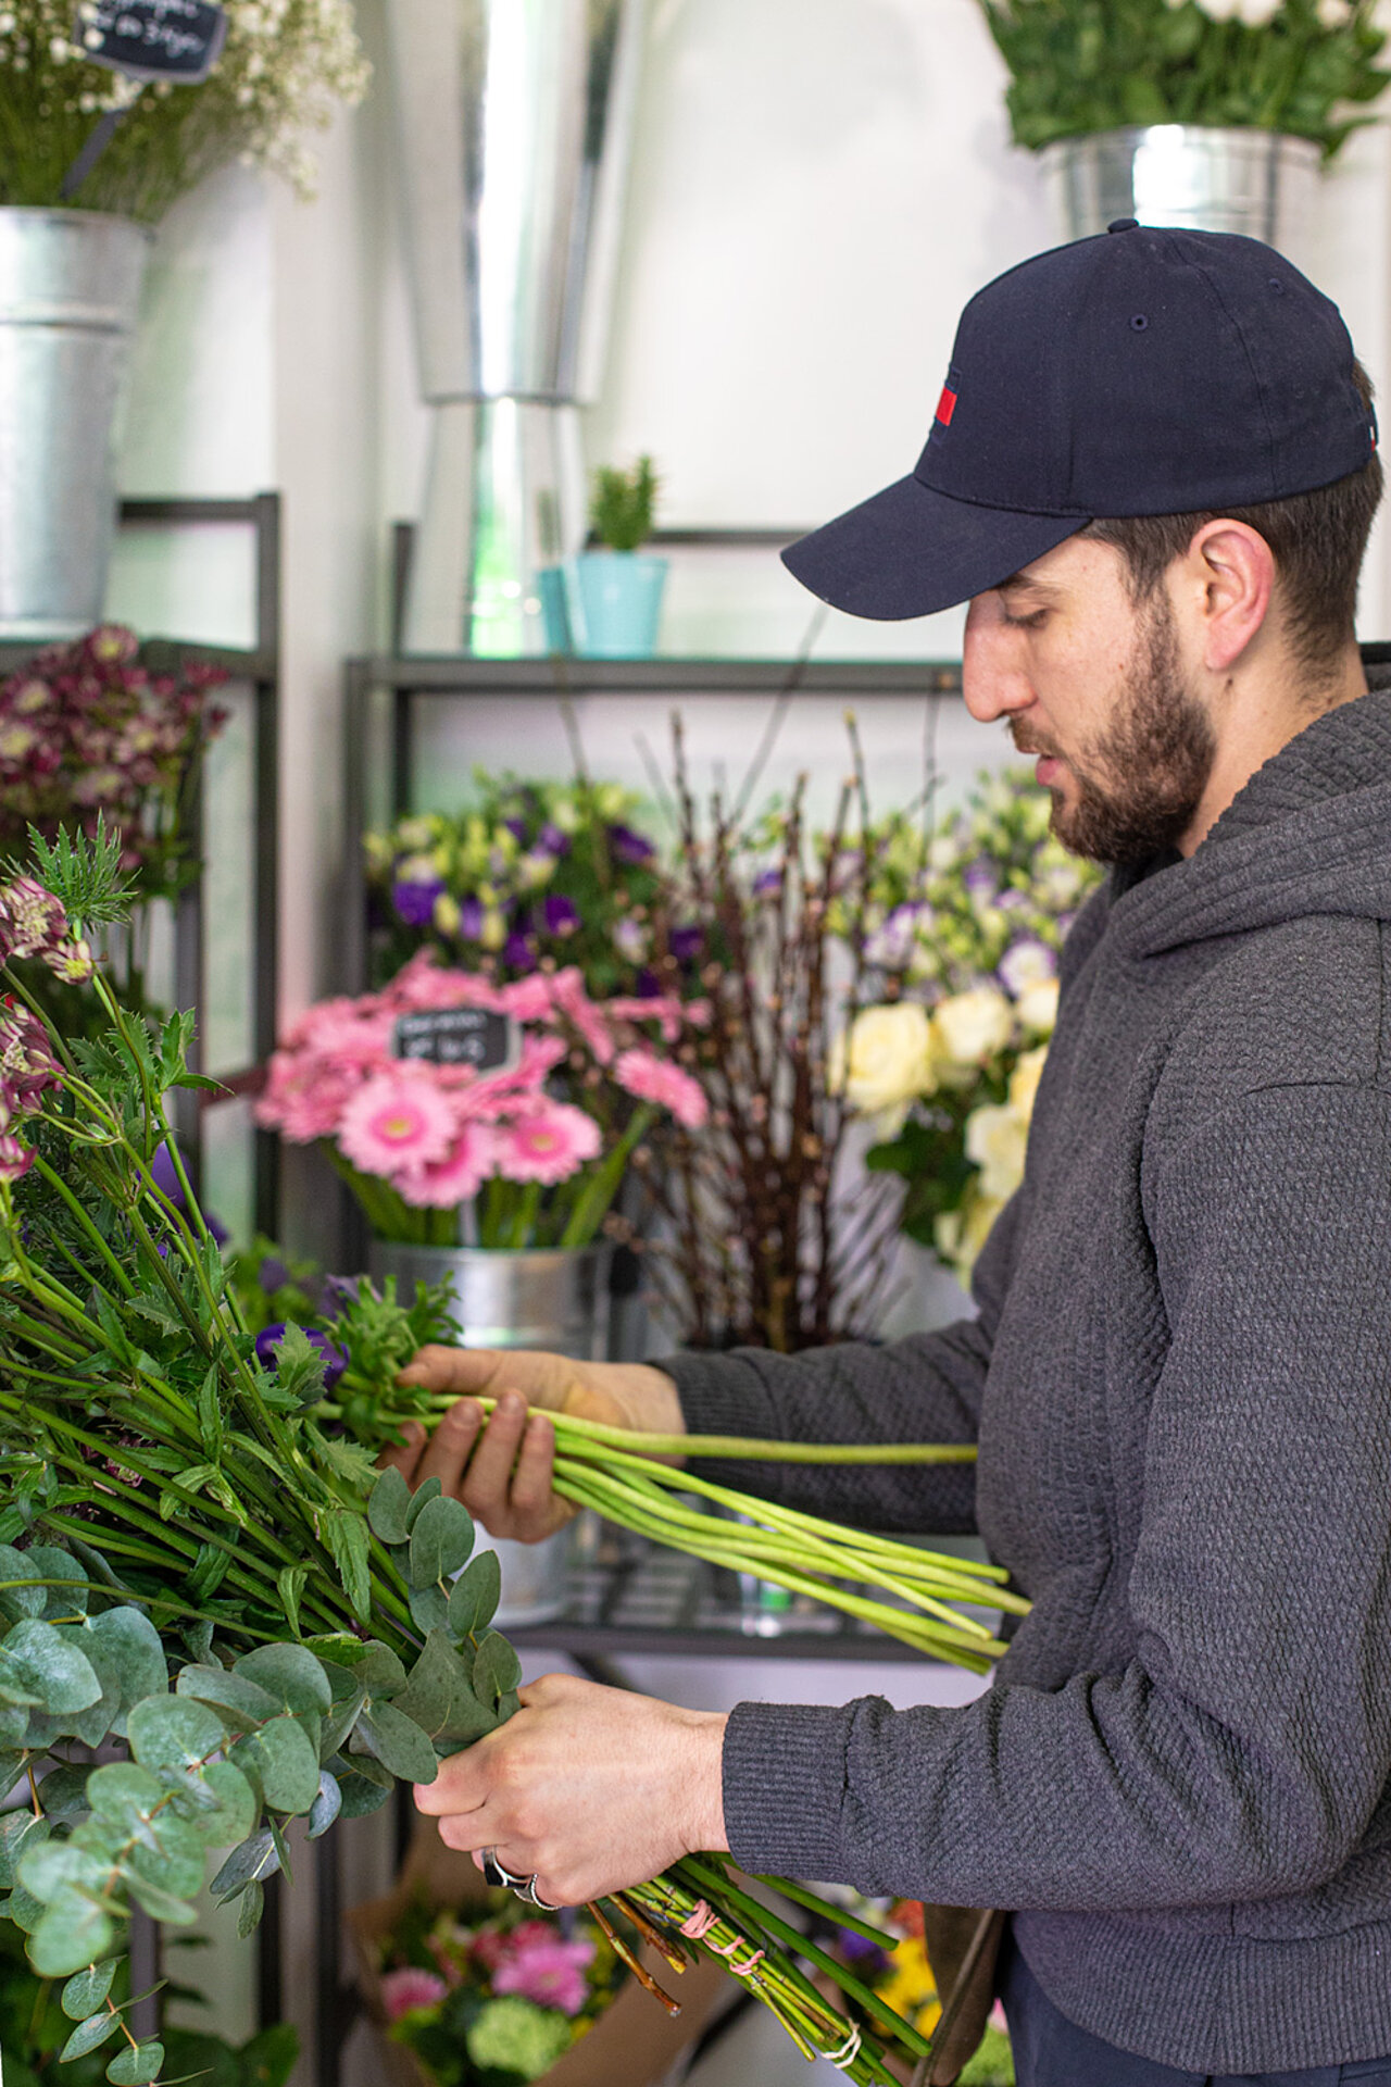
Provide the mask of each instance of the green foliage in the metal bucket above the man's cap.
{"label": "green foliage in the metal bucket above the man's cap", "polygon": [[982,0],[1005,65],[1014,138],[1143,123],[1212,123],[1310,138],[1331,159],[1349,104],[1374,102],[1391,73],[1372,0],[1283,0],[1266,21],[1218,19],[1199,0]]}

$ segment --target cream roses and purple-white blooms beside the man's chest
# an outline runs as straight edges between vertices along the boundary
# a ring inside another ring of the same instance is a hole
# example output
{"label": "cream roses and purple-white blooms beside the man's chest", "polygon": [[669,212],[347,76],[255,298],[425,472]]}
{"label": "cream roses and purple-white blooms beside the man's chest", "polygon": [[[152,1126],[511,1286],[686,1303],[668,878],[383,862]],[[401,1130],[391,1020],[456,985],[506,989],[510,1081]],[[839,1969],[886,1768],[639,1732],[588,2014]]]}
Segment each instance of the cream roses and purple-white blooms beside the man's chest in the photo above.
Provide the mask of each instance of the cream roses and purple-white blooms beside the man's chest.
{"label": "cream roses and purple-white blooms beside the man's chest", "polygon": [[963,1279],[1024,1175],[1057,952],[1097,874],[1049,835],[1026,770],[982,776],[926,837],[903,818],[878,835],[853,922],[874,1004],[830,1079],[878,1131],[865,1165],[907,1181],[903,1231]]}

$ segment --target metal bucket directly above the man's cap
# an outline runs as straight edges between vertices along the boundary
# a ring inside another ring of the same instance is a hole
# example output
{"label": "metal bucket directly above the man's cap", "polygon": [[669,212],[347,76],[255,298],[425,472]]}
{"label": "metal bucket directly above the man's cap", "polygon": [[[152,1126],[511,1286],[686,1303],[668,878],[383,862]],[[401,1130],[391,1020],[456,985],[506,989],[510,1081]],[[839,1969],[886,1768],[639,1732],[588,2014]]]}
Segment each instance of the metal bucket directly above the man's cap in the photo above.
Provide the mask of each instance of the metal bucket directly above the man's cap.
{"label": "metal bucket directly above the man's cap", "polygon": [[1070,240],[1137,217],[1143,225],[1241,232],[1297,257],[1314,221],[1322,154],[1308,138],[1280,131],[1151,123],[1061,138],[1039,159]]}

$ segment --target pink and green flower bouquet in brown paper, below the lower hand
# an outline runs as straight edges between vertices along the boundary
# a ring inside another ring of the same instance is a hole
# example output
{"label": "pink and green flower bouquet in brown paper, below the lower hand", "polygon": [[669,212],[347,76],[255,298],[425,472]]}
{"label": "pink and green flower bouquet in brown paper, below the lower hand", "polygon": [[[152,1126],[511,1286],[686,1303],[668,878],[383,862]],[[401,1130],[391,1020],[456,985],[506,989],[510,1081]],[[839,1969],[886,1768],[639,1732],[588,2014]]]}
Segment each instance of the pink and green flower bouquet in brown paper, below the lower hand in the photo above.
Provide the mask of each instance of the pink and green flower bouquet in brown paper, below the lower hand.
{"label": "pink and green flower bouquet in brown paper, below the lower hand", "polygon": [[390,2035],[434,2087],[540,2079],[626,1978],[594,1920],[536,1914],[503,1891],[467,1920],[415,1897],[377,1958]]}

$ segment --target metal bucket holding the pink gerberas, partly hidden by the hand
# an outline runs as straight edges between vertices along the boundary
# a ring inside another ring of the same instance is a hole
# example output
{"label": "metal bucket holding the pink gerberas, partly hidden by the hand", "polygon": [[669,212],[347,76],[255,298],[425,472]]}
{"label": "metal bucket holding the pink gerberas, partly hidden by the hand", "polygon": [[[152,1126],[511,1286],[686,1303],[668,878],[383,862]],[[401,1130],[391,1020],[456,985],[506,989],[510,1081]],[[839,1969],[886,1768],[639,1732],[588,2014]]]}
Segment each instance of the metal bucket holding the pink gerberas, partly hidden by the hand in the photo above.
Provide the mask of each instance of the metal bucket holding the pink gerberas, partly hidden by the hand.
{"label": "metal bucket holding the pink gerberas, partly hidden by the hand", "polygon": [[[546,1348],[599,1361],[609,1344],[611,1246],[494,1252],[484,1246],[394,1246],[373,1240],[373,1281],[396,1277],[400,1296],[415,1284],[455,1284],[453,1317],[463,1348]],[[571,1526],[574,1528],[574,1526]],[[517,1544],[478,1530],[475,1549],[496,1551],[503,1601],[496,1622],[544,1624],[565,1607],[571,1528],[542,1544]]]}

